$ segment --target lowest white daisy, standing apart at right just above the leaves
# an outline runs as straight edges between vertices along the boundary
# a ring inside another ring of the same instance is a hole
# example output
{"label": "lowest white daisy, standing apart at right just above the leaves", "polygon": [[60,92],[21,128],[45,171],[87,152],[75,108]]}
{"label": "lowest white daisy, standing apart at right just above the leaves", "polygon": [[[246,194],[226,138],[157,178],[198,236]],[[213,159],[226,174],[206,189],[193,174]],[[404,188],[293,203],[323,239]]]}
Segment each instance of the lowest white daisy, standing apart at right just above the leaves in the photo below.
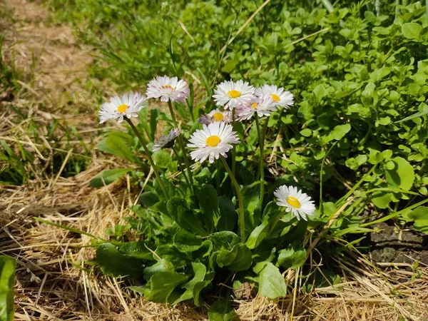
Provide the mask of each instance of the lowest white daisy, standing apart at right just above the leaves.
{"label": "lowest white daisy, standing apart at right just above the leaves", "polygon": [[294,186],[281,185],[273,192],[273,195],[277,198],[277,205],[285,206],[286,211],[291,211],[297,220],[300,218],[307,220],[307,216],[312,217],[314,215],[314,201]]}

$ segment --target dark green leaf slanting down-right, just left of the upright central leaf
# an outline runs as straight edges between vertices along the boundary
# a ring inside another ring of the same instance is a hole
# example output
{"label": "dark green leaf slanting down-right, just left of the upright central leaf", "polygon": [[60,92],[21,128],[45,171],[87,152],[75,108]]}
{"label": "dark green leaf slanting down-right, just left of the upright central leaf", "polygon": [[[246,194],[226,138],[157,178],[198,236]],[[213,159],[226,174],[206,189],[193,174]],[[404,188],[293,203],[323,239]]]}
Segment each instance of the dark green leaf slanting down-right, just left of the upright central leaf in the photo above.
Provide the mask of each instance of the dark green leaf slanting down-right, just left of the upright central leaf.
{"label": "dark green leaf slanting down-right, just left of the upright central leaf", "polygon": [[198,235],[207,235],[207,232],[200,225],[199,221],[193,215],[193,212],[188,209],[185,200],[182,198],[171,198],[168,200],[166,205],[168,213],[175,222],[180,226],[190,232],[196,233]]}

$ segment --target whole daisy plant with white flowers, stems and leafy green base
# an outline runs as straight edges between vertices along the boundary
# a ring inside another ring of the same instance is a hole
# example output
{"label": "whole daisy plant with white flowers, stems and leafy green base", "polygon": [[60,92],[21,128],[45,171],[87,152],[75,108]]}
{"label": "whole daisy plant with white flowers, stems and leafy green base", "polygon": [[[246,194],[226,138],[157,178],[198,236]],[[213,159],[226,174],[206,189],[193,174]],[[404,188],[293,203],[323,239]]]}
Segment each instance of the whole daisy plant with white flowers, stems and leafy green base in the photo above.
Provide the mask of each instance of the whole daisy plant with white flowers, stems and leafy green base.
{"label": "whole daisy plant with white flowers, stems and leafy green base", "polygon": [[[152,106],[148,118],[147,100],[154,98],[168,103],[172,122]],[[213,108],[204,111],[203,103],[210,98],[218,105],[208,102],[206,106]],[[292,106],[292,94],[277,86],[254,88],[243,80],[224,81],[212,97],[200,99],[198,121],[192,121],[190,110],[189,118],[180,112],[184,119],[178,122],[175,110],[186,99],[193,99],[186,81],[161,76],[148,83],[146,97],[129,93],[101,106],[100,123],[124,120],[131,126],[156,180],[151,183],[143,166],[138,167],[143,173],[131,170],[134,180],[146,175],[138,203],[130,207],[136,217],[126,218],[127,229],[131,226],[137,239],[120,239],[118,231],[126,229],[115,228],[109,235],[118,238],[98,246],[97,263],[108,275],[128,275],[144,282],[133,289],[153,302],[193,300],[203,305],[203,294],[218,282],[227,282],[230,272],[236,282],[263,280],[259,281],[261,295],[283,296],[287,287],[280,269],[300,266],[306,259],[301,245],[295,250],[295,233],[305,230],[305,224],[317,224],[312,223],[317,219],[315,202],[297,186],[279,185],[268,178],[267,193],[264,189],[267,121],[278,109]],[[134,124],[133,117],[141,123]],[[158,136],[160,131],[165,135]],[[186,145],[183,135],[188,138]],[[138,149],[128,152],[118,140],[133,145],[133,136],[116,132],[103,150],[128,161],[138,159]],[[251,141],[250,136],[255,139]],[[253,153],[254,144],[258,156]],[[165,160],[169,160],[166,165]],[[193,170],[190,161],[197,163]],[[299,253],[298,260],[290,258],[290,253]]]}

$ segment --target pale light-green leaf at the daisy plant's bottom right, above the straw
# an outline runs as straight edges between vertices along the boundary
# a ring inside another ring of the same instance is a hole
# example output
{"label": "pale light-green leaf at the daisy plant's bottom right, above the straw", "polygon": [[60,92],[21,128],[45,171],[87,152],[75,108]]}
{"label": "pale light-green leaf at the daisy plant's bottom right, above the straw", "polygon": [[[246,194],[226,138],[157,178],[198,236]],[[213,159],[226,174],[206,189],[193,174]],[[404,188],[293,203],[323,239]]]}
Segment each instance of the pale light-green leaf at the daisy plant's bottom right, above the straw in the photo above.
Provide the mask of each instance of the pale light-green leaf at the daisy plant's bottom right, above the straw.
{"label": "pale light-green leaf at the daisy plant's bottom right, above the straw", "polygon": [[259,293],[263,297],[275,299],[287,295],[287,285],[280,270],[270,262],[260,262],[254,267],[259,276]]}

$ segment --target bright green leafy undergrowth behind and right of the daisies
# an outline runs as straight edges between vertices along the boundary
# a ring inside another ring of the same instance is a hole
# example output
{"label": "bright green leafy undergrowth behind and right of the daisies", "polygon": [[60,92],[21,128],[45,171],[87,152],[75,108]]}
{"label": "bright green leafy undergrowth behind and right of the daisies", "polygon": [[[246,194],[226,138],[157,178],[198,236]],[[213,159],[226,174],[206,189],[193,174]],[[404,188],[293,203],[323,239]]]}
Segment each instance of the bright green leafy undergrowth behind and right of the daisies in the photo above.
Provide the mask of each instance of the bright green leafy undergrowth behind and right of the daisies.
{"label": "bright green leafy undergrowth behind and right of the daisies", "polygon": [[427,195],[428,29],[420,2],[337,1],[329,13],[320,1],[272,0],[236,37],[263,1],[46,2],[101,51],[93,72],[123,89],[157,74],[185,76],[205,87],[195,90],[196,112],[212,108],[212,88],[224,77],[294,93],[295,107],[273,116],[267,135],[268,147],[282,138],[276,165],[285,181],[317,191],[330,151],[324,199],[337,200],[362,177],[377,208],[420,200],[409,190]]}

